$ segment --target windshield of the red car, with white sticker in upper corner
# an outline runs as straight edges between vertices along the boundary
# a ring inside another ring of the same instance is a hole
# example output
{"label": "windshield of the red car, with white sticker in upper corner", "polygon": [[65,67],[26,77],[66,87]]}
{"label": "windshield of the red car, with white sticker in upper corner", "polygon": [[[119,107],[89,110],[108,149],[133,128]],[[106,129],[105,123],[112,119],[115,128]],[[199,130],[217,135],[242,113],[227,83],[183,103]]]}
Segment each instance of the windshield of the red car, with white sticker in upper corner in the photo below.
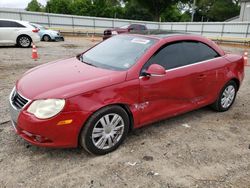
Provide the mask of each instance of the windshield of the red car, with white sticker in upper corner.
{"label": "windshield of the red car, with white sticker in upper corner", "polygon": [[156,42],[138,36],[112,37],[80,56],[83,63],[111,70],[127,70]]}

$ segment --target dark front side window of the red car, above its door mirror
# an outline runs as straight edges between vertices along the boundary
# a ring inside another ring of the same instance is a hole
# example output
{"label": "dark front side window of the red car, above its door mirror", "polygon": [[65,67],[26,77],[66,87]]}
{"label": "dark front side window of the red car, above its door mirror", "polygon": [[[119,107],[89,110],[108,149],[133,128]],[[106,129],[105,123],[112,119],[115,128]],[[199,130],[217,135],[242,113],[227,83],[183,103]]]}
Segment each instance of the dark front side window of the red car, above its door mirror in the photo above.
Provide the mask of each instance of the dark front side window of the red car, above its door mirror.
{"label": "dark front side window of the red car, above its door mirror", "polygon": [[182,56],[182,42],[167,45],[149,59],[143,70],[148,69],[151,64],[159,64],[167,70],[183,66],[185,62]]}

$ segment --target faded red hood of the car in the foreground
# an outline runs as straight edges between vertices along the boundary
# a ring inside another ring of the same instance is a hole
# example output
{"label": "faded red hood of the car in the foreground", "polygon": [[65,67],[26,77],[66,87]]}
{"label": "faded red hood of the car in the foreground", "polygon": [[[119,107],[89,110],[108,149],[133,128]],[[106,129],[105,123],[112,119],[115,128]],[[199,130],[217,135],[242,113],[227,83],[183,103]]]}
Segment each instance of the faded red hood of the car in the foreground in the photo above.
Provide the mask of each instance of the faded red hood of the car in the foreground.
{"label": "faded red hood of the car in the foreground", "polygon": [[125,79],[126,71],[101,69],[71,58],[29,70],[17,81],[16,89],[30,100],[68,98],[121,83]]}

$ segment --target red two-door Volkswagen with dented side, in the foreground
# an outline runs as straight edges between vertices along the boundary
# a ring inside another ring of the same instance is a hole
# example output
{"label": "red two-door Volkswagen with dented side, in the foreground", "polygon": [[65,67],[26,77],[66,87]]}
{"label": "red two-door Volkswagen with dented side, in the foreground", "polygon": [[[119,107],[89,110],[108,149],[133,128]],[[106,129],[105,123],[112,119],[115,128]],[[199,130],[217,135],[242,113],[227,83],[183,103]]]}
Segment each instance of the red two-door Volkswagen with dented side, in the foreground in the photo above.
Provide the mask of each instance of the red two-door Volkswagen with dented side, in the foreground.
{"label": "red two-door Volkswagen with dented side, in the foreground", "polygon": [[28,142],[106,154],[129,130],[234,103],[244,58],[195,35],[117,35],[77,57],[26,72],[10,94],[13,126]]}

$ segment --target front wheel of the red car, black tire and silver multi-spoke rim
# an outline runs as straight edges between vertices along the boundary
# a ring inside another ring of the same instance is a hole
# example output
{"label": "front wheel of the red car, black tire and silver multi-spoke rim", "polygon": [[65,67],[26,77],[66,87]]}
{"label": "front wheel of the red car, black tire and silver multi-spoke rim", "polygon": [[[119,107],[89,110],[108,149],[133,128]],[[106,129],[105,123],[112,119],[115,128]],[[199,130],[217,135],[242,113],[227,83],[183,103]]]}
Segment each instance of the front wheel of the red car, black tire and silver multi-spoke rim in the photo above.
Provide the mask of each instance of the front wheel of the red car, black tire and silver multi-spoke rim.
{"label": "front wheel of the red car, black tire and silver multi-spoke rim", "polygon": [[[116,105],[104,107],[95,112],[84,125],[80,133],[80,145],[91,154],[110,153],[126,138],[129,122],[129,116],[122,107]],[[108,126],[104,128],[107,124]]]}

